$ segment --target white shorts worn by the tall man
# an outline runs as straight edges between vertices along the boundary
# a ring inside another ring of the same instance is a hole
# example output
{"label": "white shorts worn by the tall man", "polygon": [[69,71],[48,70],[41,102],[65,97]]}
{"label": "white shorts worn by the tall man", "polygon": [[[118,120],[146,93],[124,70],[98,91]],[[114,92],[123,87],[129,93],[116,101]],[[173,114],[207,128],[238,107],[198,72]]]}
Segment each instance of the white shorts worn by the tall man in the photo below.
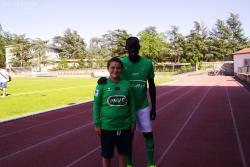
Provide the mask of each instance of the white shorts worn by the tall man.
{"label": "white shorts worn by the tall man", "polygon": [[150,120],[150,107],[139,109],[136,112],[136,129],[140,132],[152,132],[152,122]]}

